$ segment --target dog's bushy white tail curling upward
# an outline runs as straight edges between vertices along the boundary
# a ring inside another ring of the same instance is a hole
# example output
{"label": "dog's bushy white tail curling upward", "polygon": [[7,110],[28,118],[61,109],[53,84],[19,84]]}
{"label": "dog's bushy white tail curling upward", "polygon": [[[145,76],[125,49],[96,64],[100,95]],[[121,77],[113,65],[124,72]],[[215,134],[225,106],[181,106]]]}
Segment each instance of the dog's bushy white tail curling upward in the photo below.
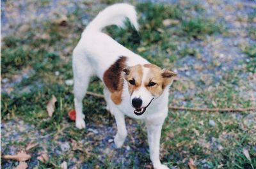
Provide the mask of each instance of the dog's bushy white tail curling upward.
{"label": "dog's bushy white tail curling upward", "polygon": [[90,22],[85,30],[102,31],[104,27],[111,25],[124,27],[126,18],[130,20],[132,26],[134,26],[134,28],[138,31],[139,25],[134,6],[125,3],[113,4],[103,11],[100,11],[97,17]]}

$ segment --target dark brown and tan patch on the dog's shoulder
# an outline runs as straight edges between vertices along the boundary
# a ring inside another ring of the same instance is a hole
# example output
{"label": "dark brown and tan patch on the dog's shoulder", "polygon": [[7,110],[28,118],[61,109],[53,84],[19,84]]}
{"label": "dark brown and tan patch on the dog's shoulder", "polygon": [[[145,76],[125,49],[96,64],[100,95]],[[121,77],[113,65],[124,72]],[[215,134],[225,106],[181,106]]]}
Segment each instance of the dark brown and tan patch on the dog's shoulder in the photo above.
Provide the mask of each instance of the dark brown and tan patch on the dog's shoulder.
{"label": "dark brown and tan patch on the dog's shoulder", "polygon": [[126,57],[121,56],[114,64],[112,64],[103,75],[103,81],[111,92],[111,99],[119,105],[122,102],[122,90],[124,80],[122,78],[122,70],[125,68]]}

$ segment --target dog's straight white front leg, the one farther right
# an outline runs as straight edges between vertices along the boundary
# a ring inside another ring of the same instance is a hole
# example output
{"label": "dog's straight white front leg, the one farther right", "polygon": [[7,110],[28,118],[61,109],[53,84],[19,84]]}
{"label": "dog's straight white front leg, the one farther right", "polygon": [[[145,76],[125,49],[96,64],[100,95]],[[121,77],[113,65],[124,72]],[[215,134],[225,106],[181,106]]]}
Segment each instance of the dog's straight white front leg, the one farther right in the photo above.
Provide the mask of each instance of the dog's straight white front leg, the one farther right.
{"label": "dog's straight white front leg, the one farther right", "polygon": [[148,144],[150,150],[150,159],[156,169],[166,169],[166,165],[162,165],[159,159],[159,148],[160,148],[160,138],[163,122],[155,123],[152,121],[146,121],[147,124],[147,134],[148,134]]}

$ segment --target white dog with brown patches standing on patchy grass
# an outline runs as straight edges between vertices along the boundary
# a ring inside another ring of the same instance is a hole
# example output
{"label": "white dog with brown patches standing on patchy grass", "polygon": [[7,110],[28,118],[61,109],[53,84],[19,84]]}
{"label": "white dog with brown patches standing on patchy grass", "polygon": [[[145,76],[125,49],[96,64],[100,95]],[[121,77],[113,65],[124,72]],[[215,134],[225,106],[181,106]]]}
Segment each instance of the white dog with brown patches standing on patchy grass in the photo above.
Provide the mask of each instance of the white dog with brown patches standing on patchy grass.
{"label": "white dog with brown patches standing on patchy grass", "polygon": [[159,159],[161,129],[168,115],[168,93],[176,73],[150,64],[140,55],[120,45],[102,29],[125,26],[128,18],[138,31],[134,6],[113,4],[101,11],[84,29],[72,54],[74,71],[74,103],[76,127],[85,128],[83,98],[90,78],[97,76],[104,82],[107,110],[115,116],[116,147],[122,147],[127,136],[125,115],[145,121],[150,159],[154,168],[168,168]]}

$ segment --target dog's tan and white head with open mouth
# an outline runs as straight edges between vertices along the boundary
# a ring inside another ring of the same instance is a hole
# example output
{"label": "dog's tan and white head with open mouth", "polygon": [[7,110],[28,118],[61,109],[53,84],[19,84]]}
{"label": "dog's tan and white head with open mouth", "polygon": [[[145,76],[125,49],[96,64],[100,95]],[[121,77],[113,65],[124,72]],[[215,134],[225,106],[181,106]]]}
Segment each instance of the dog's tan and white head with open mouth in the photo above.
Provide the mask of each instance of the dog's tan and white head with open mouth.
{"label": "dog's tan and white head with open mouth", "polygon": [[161,70],[154,64],[138,64],[124,68],[124,79],[128,83],[131,105],[134,114],[143,114],[154,99],[163,94],[164,89],[173,82],[176,73]]}

